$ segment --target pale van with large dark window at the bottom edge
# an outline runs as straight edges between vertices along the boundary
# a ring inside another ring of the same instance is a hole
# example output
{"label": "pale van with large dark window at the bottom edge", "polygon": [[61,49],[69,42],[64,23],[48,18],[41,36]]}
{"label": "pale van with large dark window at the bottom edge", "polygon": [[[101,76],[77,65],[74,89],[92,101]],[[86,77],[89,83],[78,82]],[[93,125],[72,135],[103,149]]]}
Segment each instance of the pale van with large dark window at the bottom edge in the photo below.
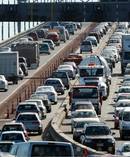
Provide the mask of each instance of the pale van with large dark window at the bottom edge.
{"label": "pale van with large dark window at the bottom edge", "polygon": [[74,157],[73,147],[67,142],[29,141],[14,144],[10,151],[14,157]]}

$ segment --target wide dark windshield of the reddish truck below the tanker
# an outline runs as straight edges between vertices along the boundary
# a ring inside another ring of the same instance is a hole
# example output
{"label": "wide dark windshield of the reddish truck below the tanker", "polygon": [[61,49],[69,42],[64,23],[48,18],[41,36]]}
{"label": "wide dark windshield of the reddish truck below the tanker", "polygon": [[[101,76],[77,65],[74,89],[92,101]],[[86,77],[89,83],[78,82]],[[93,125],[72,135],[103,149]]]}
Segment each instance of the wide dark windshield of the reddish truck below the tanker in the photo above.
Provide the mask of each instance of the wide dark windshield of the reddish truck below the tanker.
{"label": "wide dark windshield of the reddish truck below the tanker", "polygon": [[98,89],[97,88],[74,88],[73,89],[73,98],[79,99],[90,99],[98,97]]}

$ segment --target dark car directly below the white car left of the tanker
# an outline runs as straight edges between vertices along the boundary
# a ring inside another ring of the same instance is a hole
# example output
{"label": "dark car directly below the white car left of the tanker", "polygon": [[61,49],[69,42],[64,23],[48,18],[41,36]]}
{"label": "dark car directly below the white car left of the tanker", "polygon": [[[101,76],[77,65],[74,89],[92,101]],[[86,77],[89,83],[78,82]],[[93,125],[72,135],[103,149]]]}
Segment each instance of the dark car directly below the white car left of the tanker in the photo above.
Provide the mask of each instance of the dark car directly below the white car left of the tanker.
{"label": "dark car directly below the white car left of the tanker", "polygon": [[53,78],[60,78],[66,89],[70,88],[70,79],[67,72],[64,71],[54,71],[51,75]]}

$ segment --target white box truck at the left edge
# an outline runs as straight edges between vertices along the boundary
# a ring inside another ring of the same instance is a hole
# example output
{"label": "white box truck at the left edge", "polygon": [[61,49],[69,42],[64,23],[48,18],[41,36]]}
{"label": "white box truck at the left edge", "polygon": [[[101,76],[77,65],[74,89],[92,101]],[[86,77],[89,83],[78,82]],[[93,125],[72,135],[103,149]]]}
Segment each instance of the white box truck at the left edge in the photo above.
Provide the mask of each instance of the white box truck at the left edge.
{"label": "white box truck at the left edge", "polygon": [[17,51],[0,52],[0,74],[4,75],[7,81],[18,84],[19,80],[19,54]]}

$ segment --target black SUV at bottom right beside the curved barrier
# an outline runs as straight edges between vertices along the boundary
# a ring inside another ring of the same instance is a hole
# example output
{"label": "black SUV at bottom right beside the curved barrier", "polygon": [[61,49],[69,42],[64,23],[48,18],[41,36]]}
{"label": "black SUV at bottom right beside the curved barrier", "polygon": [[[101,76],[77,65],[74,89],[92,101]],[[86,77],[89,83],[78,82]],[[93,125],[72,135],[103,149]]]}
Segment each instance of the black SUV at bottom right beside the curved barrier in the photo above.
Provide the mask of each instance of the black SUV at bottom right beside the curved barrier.
{"label": "black SUV at bottom right beside the curved barrier", "polygon": [[105,123],[86,124],[80,140],[83,145],[97,151],[115,153],[115,139],[111,129]]}

